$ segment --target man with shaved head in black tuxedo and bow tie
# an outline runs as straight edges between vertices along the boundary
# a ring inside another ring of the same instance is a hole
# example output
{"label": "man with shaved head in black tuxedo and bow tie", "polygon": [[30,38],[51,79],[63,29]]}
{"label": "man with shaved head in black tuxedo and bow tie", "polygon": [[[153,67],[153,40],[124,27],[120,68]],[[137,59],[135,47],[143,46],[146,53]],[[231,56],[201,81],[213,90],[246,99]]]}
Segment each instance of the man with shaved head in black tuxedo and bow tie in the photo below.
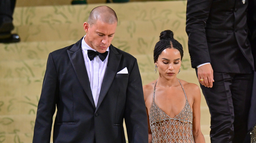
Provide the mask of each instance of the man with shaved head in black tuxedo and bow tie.
{"label": "man with shaved head in black tuxedo and bow tie", "polygon": [[148,142],[147,114],[135,57],[111,44],[117,16],[94,8],[86,35],[49,54],[34,126],[33,143]]}

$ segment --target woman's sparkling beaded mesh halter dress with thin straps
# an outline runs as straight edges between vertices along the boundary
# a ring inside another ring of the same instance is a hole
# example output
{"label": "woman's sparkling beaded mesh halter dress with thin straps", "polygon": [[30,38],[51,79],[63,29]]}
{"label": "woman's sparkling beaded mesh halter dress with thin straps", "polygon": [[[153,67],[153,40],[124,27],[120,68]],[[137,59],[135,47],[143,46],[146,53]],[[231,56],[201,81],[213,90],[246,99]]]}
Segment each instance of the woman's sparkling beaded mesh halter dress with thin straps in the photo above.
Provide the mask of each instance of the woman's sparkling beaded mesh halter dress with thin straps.
{"label": "woman's sparkling beaded mesh halter dress with thin straps", "polygon": [[186,98],[185,106],[177,116],[170,118],[155,103],[156,85],[157,82],[154,87],[153,103],[149,110],[152,143],[194,143],[192,134],[193,112],[183,86],[181,85]]}

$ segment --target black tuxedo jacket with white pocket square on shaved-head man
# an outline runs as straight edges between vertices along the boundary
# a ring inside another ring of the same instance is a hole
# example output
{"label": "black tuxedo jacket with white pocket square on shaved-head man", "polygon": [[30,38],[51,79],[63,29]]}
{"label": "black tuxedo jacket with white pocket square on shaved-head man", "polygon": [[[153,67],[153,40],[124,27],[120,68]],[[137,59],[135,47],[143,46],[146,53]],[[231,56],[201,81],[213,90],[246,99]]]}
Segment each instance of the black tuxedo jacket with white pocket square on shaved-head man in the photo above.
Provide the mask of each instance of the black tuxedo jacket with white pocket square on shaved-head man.
{"label": "black tuxedo jacket with white pocket square on shaved-head man", "polygon": [[[124,119],[129,142],[147,143],[147,114],[136,58],[110,45],[95,106],[81,40],[49,54],[33,143],[50,142],[55,108],[54,143],[125,143]],[[127,74],[117,74],[125,67]]]}

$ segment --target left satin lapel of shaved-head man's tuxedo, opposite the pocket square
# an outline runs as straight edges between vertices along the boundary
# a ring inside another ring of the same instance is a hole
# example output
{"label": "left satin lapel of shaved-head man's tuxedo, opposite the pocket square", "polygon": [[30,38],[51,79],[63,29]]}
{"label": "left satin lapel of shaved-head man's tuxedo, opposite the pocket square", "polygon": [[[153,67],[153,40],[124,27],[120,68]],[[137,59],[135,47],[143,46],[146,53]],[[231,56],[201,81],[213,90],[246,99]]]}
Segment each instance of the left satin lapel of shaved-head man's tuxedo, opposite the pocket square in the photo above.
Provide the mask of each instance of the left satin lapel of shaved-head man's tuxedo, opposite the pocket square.
{"label": "left satin lapel of shaved-head man's tuxedo, opposite the pocket square", "polygon": [[[78,42],[80,42],[80,44]],[[68,50],[67,52],[69,54],[71,63],[75,69],[76,76],[80,84],[82,85],[86,95],[88,96],[89,100],[95,108],[90,81],[84,63],[84,56],[81,48],[81,40],[79,40],[78,42],[70,49],[70,51]]]}

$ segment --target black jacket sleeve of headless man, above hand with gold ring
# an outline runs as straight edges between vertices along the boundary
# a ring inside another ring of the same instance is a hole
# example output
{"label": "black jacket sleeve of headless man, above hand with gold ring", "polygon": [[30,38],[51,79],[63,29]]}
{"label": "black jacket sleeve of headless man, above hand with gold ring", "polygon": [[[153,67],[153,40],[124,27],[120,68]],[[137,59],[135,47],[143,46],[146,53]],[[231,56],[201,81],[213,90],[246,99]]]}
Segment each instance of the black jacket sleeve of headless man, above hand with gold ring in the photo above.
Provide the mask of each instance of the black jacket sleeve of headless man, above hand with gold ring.
{"label": "black jacket sleeve of headless man, above hand with gold ring", "polygon": [[205,35],[211,3],[212,0],[187,0],[186,32],[192,68],[211,62]]}

